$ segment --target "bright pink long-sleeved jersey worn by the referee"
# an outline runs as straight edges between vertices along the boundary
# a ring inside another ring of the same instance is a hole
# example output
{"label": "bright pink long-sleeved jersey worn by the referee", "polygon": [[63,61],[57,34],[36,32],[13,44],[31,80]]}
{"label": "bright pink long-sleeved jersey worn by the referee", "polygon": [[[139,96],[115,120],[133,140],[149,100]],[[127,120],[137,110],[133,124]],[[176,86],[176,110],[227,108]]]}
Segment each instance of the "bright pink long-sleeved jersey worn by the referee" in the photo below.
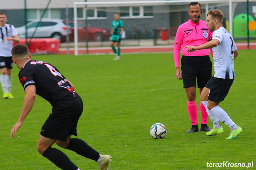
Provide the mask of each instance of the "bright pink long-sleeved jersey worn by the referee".
{"label": "bright pink long-sleeved jersey worn by the referee", "polygon": [[[205,25],[205,21],[199,20],[198,23],[191,22],[191,19],[180,25],[175,41],[174,41],[174,63],[175,67],[179,67],[180,48],[182,45],[183,56],[207,56],[209,49],[197,50],[194,52],[187,52],[185,46],[200,46],[207,43],[212,38],[212,32]],[[211,49],[212,52],[212,49]]]}

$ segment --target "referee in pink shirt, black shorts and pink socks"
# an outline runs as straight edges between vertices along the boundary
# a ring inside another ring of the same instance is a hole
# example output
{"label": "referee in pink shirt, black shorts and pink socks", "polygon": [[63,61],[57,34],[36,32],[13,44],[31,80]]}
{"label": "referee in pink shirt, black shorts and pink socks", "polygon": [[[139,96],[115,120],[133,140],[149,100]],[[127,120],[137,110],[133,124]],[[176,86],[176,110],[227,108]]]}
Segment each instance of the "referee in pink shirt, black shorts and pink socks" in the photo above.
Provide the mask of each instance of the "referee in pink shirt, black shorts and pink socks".
{"label": "referee in pink shirt, black shorts and pink socks", "polygon": [[[196,82],[201,94],[204,86],[212,78],[212,62],[209,57],[209,49],[187,52],[182,48],[181,70],[179,68],[179,56],[181,46],[200,46],[212,39],[212,32],[209,32],[206,22],[200,20],[201,4],[191,2],[189,4],[188,14],[191,19],[180,25],[174,42],[174,63],[176,67],[176,77],[183,80],[183,87],[187,93],[187,111],[190,116],[192,127],[186,133],[198,132],[197,124],[197,106]],[[212,52],[212,49],[211,49]],[[207,126],[208,114],[205,107],[200,102],[201,128],[200,131],[209,132],[211,129]]]}

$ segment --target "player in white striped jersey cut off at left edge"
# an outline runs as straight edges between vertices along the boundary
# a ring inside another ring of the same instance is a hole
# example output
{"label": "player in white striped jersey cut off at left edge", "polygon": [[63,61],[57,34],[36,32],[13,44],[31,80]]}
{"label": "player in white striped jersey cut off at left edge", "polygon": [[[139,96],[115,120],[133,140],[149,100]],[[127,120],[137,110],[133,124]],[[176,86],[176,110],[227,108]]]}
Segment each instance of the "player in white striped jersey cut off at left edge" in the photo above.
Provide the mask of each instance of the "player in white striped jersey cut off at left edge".
{"label": "player in white striped jersey cut off at left edge", "polygon": [[13,25],[6,24],[5,12],[0,12],[0,81],[4,98],[13,98],[12,88],[12,41],[19,43],[18,33]]}

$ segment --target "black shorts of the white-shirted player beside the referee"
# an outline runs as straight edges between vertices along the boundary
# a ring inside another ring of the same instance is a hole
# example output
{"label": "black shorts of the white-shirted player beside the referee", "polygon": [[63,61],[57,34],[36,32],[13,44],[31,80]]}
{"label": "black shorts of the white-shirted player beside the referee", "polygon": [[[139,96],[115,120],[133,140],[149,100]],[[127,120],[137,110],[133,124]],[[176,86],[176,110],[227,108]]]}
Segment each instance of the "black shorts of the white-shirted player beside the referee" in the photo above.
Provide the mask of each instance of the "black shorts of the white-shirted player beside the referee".
{"label": "black shorts of the white-shirted player beside the referee", "polygon": [[224,98],[228,95],[228,91],[233,83],[234,79],[222,79],[212,77],[209,82],[205,85],[209,88],[209,101],[222,102]]}

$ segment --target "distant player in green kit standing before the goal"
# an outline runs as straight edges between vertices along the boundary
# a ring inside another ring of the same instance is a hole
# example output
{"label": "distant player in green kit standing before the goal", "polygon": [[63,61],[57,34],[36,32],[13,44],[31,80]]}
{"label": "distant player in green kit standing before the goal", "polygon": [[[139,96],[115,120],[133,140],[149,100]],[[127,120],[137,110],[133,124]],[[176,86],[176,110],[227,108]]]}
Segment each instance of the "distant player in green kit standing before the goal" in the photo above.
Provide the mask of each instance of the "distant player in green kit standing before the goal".
{"label": "distant player in green kit standing before the goal", "polygon": [[[114,14],[115,21],[112,22],[112,30],[111,30],[111,37],[110,37],[110,46],[112,47],[115,58],[113,60],[119,60],[120,59],[120,43],[122,39],[122,33],[124,30],[124,24],[123,21],[119,20],[119,14]],[[117,42],[117,51],[115,48],[115,42]]]}

